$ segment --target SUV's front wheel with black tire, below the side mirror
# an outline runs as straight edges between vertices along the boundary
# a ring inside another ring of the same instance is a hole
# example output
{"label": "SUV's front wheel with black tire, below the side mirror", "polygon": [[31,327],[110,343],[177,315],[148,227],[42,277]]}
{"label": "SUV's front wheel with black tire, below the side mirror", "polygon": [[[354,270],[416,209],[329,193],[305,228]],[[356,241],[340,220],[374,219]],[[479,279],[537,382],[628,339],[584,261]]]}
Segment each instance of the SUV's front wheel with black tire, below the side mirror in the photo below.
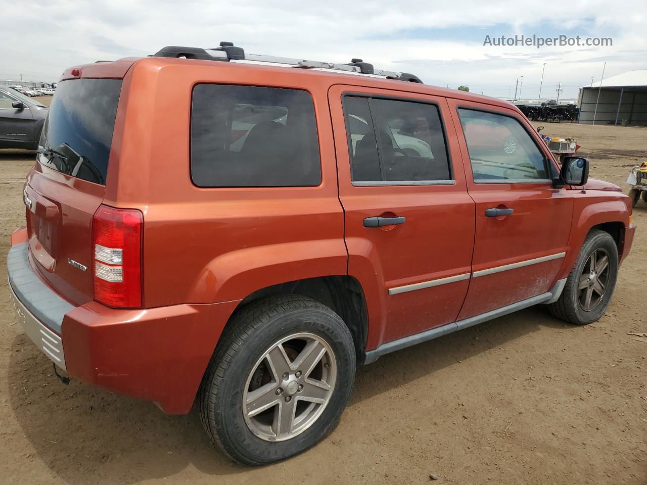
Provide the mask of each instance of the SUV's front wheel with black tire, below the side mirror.
{"label": "SUV's front wheel with black tire, below the side mirror", "polygon": [[[595,254],[597,262],[596,279],[591,279],[591,255]],[[606,270],[600,270],[600,262],[607,256]],[[566,279],[564,291],[555,303],[549,305],[554,317],[574,323],[587,325],[600,319],[609,305],[618,275],[618,248],[609,233],[592,230],[586,237],[573,270]],[[597,283],[601,283],[604,292],[598,293]],[[580,288],[580,283],[586,288]],[[593,285],[593,286],[590,286]],[[590,305],[586,305],[587,292],[591,290]]]}

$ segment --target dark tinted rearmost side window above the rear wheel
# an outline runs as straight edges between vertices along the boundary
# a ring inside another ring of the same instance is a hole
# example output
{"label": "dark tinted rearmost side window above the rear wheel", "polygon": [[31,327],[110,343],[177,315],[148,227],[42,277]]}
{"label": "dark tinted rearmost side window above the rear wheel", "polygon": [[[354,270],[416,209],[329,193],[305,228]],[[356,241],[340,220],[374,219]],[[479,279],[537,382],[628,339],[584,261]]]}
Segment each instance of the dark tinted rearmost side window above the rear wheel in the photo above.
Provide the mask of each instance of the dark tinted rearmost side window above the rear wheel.
{"label": "dark tinted rearmost side window above the rear wheel", "polygon": [[199,187],[317,186],[321,164],[309,93],[199,84],[191,111],[191,177]]}

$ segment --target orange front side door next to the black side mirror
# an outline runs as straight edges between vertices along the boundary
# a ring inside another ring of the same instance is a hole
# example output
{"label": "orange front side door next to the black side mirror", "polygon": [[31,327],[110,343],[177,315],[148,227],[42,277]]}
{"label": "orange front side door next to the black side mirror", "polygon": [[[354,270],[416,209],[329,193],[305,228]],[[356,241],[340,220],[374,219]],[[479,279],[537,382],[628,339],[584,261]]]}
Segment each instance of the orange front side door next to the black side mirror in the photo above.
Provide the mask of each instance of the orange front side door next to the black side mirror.
{"label": "orange front side door next to the black side mirror", "polygon": [[472,283],[459,315],[465,319],[551,289],[567,250],[573,199],[553,187],[553,158],[518,113],[448,103],[476,202]]}

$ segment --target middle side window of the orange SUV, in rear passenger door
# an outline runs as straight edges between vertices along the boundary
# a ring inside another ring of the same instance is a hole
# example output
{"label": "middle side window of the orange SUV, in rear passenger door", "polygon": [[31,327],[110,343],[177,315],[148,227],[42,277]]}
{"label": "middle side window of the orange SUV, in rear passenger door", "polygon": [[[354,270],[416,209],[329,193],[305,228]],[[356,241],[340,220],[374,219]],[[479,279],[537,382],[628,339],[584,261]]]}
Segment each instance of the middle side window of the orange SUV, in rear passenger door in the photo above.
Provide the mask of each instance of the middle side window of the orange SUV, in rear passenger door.
{"label": "middle side window of the orange SUV, in rear passenger door", "polygon": [[344,112],[353,181],[450,180],[435,105],[346,96]]}

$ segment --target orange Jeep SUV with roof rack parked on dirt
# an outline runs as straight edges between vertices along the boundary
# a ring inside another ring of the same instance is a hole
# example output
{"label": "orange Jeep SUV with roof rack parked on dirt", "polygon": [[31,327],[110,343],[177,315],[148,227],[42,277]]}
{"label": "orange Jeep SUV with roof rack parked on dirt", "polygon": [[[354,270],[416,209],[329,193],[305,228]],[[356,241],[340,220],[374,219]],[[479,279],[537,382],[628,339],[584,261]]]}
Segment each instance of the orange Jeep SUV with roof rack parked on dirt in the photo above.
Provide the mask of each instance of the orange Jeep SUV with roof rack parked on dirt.
{"label": "orange Jeep SUV with roof rack parked on dirt", "polygon": [[600,318],[635,226],[588,167],[510,103],[361,59],[166,47],[63,73],[9,288],[56,367],[195,402],[264,464],[331,433],[358,364],[538,303]]}

